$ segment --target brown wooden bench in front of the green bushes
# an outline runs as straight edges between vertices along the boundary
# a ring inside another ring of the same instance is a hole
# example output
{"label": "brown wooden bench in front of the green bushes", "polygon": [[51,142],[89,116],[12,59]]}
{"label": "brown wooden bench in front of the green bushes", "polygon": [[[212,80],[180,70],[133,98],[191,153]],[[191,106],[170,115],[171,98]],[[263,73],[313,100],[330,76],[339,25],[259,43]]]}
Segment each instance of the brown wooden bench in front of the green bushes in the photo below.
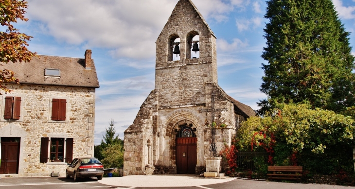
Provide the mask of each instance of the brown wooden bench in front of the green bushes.
{"label": "brown wooden bench in front of the green bushes", "polygon": [[302,177],[302,166],[268,166],[269,179],[299,180]]}

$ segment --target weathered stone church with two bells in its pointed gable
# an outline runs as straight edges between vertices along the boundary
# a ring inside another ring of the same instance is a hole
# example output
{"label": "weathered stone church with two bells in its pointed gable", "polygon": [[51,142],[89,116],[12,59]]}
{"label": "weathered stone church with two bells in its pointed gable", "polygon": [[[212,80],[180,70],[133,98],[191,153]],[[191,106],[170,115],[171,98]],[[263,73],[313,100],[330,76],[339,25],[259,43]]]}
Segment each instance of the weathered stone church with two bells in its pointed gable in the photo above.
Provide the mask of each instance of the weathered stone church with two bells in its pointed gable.
{"label": "weathered stone church with two bells in its pointed gable", "polygon": [[255,112],[218,86],[216,37],[191,0],[177,2],[156,45],[155,89],[124,131],[124,175],[202,173],[212,142],[218,155]]}

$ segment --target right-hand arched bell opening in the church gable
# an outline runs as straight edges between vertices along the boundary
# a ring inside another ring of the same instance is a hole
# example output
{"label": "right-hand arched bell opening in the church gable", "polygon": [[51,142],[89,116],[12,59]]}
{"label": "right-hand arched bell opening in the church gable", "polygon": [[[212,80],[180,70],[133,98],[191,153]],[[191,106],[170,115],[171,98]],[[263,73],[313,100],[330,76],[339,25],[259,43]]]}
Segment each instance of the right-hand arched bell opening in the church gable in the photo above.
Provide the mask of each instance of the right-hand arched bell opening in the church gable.
{"label": "right-hand arched bell opening in the church gable", "polygon": [[186,37],[186,58],[200,57],[200,35],[196,31],[191,31]]}

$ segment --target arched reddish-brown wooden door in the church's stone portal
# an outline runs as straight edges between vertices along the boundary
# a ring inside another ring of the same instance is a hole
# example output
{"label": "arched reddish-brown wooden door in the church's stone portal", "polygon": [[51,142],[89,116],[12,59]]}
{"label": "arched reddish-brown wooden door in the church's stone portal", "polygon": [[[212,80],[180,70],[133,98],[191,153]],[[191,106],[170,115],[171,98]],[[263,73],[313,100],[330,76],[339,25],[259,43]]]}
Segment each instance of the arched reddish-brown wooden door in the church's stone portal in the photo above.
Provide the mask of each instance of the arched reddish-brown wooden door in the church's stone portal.
{"label": "arched reddish-brown wooden door in the church's stone portal", "polygon": [[[192,125],[191,125],[192,126]],[[183,125],[176,138],[176,166],[178,174],[195,174],[197,164],[197,138],[191,129]]]}

